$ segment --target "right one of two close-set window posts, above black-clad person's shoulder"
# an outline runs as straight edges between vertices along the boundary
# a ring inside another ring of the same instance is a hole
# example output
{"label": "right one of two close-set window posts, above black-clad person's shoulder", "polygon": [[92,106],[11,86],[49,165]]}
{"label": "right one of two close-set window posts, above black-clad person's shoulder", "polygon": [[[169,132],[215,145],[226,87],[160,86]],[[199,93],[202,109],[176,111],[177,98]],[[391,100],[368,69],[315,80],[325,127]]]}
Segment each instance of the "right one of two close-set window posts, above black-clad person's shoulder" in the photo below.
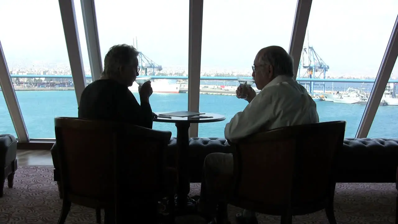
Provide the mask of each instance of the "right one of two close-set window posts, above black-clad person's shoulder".
{"label": "right one of two close-set window posts, above black-clad person's shoulder", "polygon": [[86,42],[88,50],[88,59],[90,61],[91,78],[92,81],[100,79],[103,71],[101,50],[100,50],[100,39],[98,37],[98,26],[96,7],[94,0],[82,0],[84,31],[86,33]]}

